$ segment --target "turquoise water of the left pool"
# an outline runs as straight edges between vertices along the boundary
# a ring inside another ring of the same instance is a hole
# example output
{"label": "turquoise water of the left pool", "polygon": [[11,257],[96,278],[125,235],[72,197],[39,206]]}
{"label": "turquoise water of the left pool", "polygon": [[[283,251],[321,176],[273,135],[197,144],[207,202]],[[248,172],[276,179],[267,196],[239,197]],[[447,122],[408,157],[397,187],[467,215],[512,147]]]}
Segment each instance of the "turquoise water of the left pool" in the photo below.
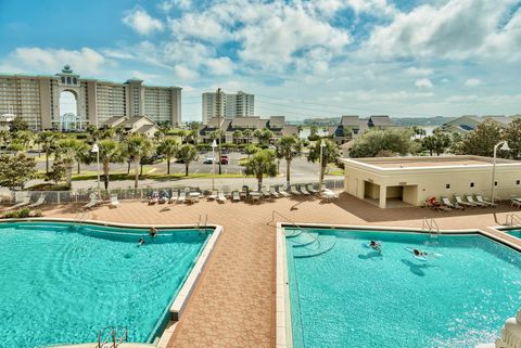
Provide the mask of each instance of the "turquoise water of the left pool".
{"label": "turquoise water of the left pool", "polygon": [[106,326],[153,339],[211,233],[1,223],[0,346],[96,341]]}

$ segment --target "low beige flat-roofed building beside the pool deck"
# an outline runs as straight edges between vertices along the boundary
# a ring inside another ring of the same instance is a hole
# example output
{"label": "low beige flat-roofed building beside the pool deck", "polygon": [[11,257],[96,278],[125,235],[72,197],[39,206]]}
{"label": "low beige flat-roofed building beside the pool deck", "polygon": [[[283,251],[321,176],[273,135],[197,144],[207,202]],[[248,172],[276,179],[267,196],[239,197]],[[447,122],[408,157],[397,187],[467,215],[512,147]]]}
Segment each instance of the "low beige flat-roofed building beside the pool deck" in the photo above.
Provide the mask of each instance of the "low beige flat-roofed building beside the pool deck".
{"label": "low beige flat-roofed building beside the pool deck", "polygon": [[[390,203],[419,206],[430,196],[492,193],[493,158],[432,156],[344,158],[344,191],[385,208]],[[496,199],[521,194],[521,162],[496,162]]]}

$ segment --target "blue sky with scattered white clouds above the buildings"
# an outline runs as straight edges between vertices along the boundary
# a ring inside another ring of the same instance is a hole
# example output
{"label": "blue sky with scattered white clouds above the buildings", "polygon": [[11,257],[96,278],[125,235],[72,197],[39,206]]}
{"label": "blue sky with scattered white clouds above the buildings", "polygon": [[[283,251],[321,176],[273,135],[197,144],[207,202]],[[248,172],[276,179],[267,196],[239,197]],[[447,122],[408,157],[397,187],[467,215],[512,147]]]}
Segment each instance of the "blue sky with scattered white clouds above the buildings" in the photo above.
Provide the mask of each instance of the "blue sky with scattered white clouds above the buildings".
{"label": "blue sky with scattered white clouds above the buildings", "polygon": [[521,0],[0,0],[0,72],[256,94],[257,115],[521,113]]}

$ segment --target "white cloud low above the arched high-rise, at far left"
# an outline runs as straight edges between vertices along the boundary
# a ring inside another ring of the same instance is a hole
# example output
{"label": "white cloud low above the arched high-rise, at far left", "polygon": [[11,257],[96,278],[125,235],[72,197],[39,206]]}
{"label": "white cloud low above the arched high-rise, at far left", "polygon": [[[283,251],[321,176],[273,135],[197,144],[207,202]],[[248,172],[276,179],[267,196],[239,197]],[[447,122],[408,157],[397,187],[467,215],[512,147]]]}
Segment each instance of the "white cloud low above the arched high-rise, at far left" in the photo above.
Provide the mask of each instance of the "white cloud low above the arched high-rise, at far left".
{"label": "white cloud low above the arched high-rise, at far left", "polygon": [[99,74],[106,64],[112,65],[101,53],[90,48],[80,50],[17,48],[2,61],[4,69],[18,73],[59,72],[65,64],[81,74]]}

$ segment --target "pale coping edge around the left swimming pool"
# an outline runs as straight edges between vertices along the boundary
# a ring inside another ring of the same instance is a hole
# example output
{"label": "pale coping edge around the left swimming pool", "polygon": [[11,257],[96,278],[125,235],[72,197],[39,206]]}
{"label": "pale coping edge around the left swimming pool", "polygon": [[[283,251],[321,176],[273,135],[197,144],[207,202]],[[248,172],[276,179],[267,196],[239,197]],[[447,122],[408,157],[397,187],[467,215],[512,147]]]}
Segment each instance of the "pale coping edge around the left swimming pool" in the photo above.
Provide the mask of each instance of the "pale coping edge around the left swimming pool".
{"label": "pale coping edge around the left swimming pool", "polygon": [[[103,227],[118,227],[118,228],[132,228],[132,229],[147,229],[150,228],[151,224],[138,224],[138,223],[119,223],[119,222],[113,222],[113,221],[103,221],[103,220],[82,220],[81,222],[75,221],[72,219],[66,219],[66,218],[13,218],[13,219],[2,219],[0,220],[0,224],[2,222],[33,222],[33,221],[41,221],[41,222],[72,222],[72,223],[78,223],[78,224],[97,224],[97,225],[103,225]],[[155,228],[158,229],[198,229],[201,227],[194,225],[194,224],[153,224]],[[139,344],[136,343],[136,345],[143,345],[143,346],[152,346],[152,347],[157,347],[157,348],[166,348],[168,345],[171,336],[174,336],[175,330],[177,327],[177,323],[181,319],[181,314],[185,311],[188,301],[193,293],[193,289],[195,288],[199,279],[201,278],[201,274],[204,272],[207,261],[215,248],[215,245],[217,243],[217,240],[220,235],[220,233],[224,231],[224,227],[220,224],[212,224],[207,223],[203,227],[204,229],[206,228],[212,228],[214,231],[212,232],[212,235],[209,236],[208,241],[205,243],[204,248],[201,250],[201,254],[199,255],[195,265],[192,267],[190,273],[185,280],[183,285],[177,293],[175,299],[171,301],[171,306],[168,308],[169,312],[169,320],[158,336],[158,339],[156,339],[152,344]],[[67,348],[67,347],[77,347],[81,345],[90,345],[92,343],[81,343],[81,344],[74,344],[74,345],[54,345],[54,346],[49,346],[49,348]],[[134,343],[132,343],[134,344]]]}

